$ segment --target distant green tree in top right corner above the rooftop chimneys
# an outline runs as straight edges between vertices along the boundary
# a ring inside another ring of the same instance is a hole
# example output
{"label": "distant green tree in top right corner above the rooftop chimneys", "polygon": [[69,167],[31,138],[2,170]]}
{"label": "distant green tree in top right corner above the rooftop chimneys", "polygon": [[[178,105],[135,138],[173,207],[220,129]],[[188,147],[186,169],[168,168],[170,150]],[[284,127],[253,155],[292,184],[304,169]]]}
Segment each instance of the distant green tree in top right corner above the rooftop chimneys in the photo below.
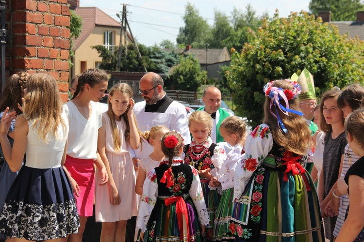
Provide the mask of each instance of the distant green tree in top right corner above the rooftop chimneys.
{"label": "distant green tree in top right corner above the rooftop chimneys", "polygon": [[361,0],[311,0],[310,12],[331,11],[331,21],[354,21],[356,12],[364,10]]}

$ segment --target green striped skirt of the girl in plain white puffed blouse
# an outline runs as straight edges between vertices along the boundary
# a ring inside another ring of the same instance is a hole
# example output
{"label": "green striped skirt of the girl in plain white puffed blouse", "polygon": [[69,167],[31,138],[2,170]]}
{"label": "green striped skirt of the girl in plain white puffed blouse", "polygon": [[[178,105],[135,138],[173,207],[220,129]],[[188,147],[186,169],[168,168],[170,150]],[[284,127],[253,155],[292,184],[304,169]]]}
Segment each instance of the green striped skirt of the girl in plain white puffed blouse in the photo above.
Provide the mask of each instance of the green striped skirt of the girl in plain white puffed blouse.
{"label": "green striped skirt of the girl in plain white puffed blouse", "polygon": [[222,192],[214,222],[213,241],[232,241],[234,237],[228,234],[230,217],[233,208],[234,189],[230,188]]}

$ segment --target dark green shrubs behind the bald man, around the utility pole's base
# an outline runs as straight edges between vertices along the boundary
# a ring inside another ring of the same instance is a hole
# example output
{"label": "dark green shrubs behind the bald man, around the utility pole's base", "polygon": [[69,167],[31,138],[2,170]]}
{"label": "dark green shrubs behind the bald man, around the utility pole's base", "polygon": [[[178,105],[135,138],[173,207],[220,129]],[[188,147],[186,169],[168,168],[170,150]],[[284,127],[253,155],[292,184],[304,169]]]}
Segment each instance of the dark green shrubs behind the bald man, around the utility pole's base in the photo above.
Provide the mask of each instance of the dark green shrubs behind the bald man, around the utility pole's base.
{"label": "dark green shrubs behind the bald man, around the utility pole's base", "polygon": [[[103,45],[91,46],[99,53],[102,58],[100,68],[108,71],[117,71],[117,62],[119,60],[119,47],[115,47],[115,51],[111,52]],[[138,44],[138,48],[142,59],[138,57],[138,51],[134,45],[128,45],[128,55],[121,56],[120,71],[124,72],[145,72],[144,66],[150,72],[159,74],[167,74],[169,68],[178,63],[178,55],[174,52],[168,53],[164,50],[159,50],[156,47],[146,47],[145,45]],[[122,53],[124,53],[124,46],[122,46]]]}

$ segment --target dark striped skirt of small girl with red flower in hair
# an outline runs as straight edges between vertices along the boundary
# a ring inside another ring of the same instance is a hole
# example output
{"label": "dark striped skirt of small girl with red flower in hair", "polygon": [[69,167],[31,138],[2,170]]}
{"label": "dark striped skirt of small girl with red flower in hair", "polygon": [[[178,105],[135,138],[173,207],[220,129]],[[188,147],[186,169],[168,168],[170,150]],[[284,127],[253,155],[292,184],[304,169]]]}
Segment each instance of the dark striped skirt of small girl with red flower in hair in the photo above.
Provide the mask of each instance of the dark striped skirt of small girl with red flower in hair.
{"label": "dark striped skirt of small girl with red flower in hair", "polygon": [[199,230],[199,215],[196,211],[195,205],[190,197],[185,199],[188,223],[184,225],[189,231],[190,240],[184,237],[180,238],[179,221],[176,212],[176,202],[165,206],[165,199],[158,197],[155,206],[150,214],[147,224],[147,230],[144,234],[144,241],[155,242],[201,242],[200,230]]}

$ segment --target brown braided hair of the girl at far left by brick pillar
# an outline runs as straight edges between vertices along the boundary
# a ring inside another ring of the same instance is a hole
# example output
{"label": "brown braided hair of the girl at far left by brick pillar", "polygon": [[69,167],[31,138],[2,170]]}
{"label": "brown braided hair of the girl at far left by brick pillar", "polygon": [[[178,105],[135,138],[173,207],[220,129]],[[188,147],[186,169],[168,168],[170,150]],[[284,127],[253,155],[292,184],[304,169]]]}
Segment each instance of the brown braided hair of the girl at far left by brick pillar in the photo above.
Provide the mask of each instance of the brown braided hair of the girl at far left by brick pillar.
{"label": "brown braided hair of the girl at far left by brick pillar", "polygon": [[22,113],[17,104],[23,105],[21,98],[24,96],[24,90],[27,88],[29,76],[27,72],[18,72],[6,80],[1,93],[0,112],[9,107],[9,110],[16,111],[17,115]]}

